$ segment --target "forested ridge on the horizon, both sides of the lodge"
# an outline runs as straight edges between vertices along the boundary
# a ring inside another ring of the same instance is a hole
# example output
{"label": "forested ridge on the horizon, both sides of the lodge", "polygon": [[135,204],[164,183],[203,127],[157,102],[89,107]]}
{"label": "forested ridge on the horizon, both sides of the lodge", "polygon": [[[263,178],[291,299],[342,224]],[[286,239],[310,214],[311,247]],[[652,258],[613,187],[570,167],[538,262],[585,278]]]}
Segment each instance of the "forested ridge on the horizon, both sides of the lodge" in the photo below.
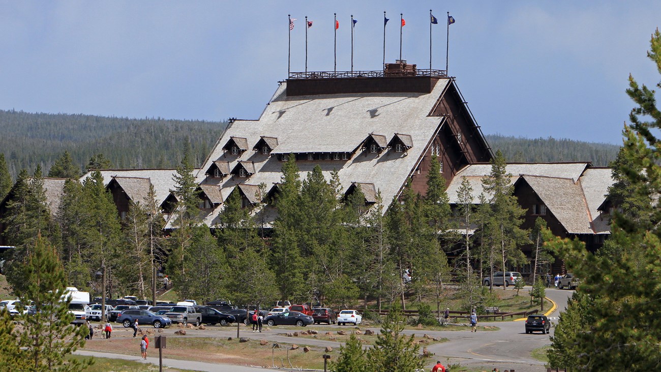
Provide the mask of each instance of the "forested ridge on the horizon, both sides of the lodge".
{"label": "forested ridge on the horizon, both sides of the lodge", "polygon": [[[176,167],[185,144],[200,166],[227,122],[118,118],[94,115],[24,113],[0,110],[0,153],[11,176],[20,169],[44,174],[65,150],[81,166],[95,154],[103,154],[116,168]],[[502,150],[508,162],[568,162],[590,160],[605,166],[615,159],[619,146],[555,138],[516,138],[486,135],[494,150]]]}

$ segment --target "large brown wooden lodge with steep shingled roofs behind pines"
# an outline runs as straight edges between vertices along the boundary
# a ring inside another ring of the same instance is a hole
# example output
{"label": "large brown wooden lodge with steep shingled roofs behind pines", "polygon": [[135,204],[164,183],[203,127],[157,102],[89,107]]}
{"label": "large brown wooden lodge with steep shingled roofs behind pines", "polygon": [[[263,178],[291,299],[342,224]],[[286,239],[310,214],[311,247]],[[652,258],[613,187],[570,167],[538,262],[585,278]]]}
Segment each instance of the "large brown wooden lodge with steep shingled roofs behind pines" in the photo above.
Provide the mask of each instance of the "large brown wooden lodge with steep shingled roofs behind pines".
{"label": "large brown wooden lodge with steep shingled roofs behind pines", "polygon": [[[403,63],[369,73],[291,73],[257,120],[230,121],[196,169],[204,222],[217,226],[223,201],[232,192],[241,194],[243,206],[253,214],[274,220],[276,210],[263,202],[277,190],[282,164],[290,156],[295,156],[301,178],[315,165],[327,179],[336,169],[347,194],[360,185],[366,205],[376,203],[377,191],[387,205],[409,180],[414,191],[426,193],[426,177],[436,155],[451,203],[457,202],[464,176],[477,201],[493,154],[465,101],[446,71],[417,70]],[[609,216],[600,206],[613,183],[610,169],[563,162],[510,163],[507,170],[520,205],[527,209],[524,228],[532,227],[539,216],[557,236],[578,237],[592,251],[603,244]],[[174,172],[106,169],[102,175],[120,216],[130,200],[143,200],[149,183],[171,215],[176,202],[169,192]],[[46,179],[52,212],[62,183]],[[266,185],[263,192],[260,184]],[[0,215],[11,197],[10,193],[0,203]],[[527,267],[517,269],[529,272]],[[553,271],[563,271],[561,262]]]}

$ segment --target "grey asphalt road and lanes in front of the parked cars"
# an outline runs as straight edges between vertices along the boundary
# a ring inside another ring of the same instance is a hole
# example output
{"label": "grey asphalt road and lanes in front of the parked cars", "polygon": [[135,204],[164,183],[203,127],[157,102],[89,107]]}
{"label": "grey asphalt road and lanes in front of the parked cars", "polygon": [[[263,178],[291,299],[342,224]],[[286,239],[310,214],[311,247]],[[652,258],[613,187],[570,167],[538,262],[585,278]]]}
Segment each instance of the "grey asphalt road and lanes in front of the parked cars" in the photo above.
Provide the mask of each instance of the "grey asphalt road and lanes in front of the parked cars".
{"label": "grey asphalt road and lanes in front of the parked cars", "polygon": [[[511,289],[508,289],[510,291]],[[557,318],[566,307],[568,298],[572,295],[573,291],[547,289],[547,298],[551,299],[557,307],[552,312],[547,313],[551,318],[552,324],[557,322]],[[524,293],[522,293],[525,296]],[[541,372],[545,371],[544,363],[537,361],[530,356],[533,349],[541,348],[545,345],[551,344],[549,336],[553,335],[554,328],[551,328],[551,334],[543,335],[540,333],[525,334],[524,323],[520,321],[515,322],[480,322],[480,326],[496,326],[500,328],[499,331],[481,331],[470,332],[468,327],[465,331],[418,331],[406,330],[405,333],[425,333],[434,337],[444,337],[449,341],[442,344],[434,344],[428,346],[428,350],[436,354],[436,358],[440,359],[444,364],[446,363],[461,363],[470,367],[483,367],[485,370],[491,370],[497,367],[500,371],[505,369],[515,369],[516,372]],[[320,333],[325,332],[325,326],[315,326],[315,329]],[[347,327],[347,330],[351,328]],[[378,328],[371,328],[378,331]],[[173,337],[171,334],[175,329],[168,328],[164,335]],[[216,337],[227,338],[229,336],[236,336],[236,328],[211,326],[207,330],[196,330],[195,336],[197,337]],[[241,336],[246,336],[253,339],[265,339],[269,342],[283,342],[291,343],[296,338],[287,337],[285,332],[292,332],[292,330],[283,330],[282,328],[274,327],[271,330],[263,333],[253,333],[247,328],[241,328]],[[176,336],[174,336],[176,337]],[[187,337],[187,336],[184,336]],[[326,340],[315,340],[306,338],[305,342],[300,340],[298,344],[309,344],[310,346],[332,346],[338,348],[338,342],[331,342]],[[77,351],[81,355],[97,355],[99,357],[116,357],[121,359],[139,360],[139,357],[131,355],[122,355],[114,353],[96,353],[93,351]],[[270,371],[263,368],[251,368],[236,365],[221,365],[215,363],[202,363],[195,361],[179,361],[176,359],[163,359],[165,365],[182,369],[194,369],[196,371],[229,371],[229,372],[254,372],[254,371]],[[167,362],[166,362],[167,361]],[[158,358],[150,357],[147,362],[158,363]],[[447,365],[447,364],[446,364]],[[431,365],[426,366],[431,367]],[[282,371],[282,370],[281,370]]]}

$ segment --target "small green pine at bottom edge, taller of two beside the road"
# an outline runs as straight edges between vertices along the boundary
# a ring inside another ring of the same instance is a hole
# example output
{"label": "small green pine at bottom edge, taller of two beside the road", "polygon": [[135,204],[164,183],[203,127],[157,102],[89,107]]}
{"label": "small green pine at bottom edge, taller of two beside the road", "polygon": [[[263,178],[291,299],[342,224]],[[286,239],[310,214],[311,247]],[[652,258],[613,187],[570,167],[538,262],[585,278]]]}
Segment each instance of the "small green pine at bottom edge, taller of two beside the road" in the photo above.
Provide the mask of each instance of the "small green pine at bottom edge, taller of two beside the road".
{"label": "small green pine at bottom edge, taller of two beside the road", "polygon": [[408,337],[402,334],[405,324],[401,308],[394,302],[381,324],[374,347],[367,352],[369,371],[410,372],[422,368],[420,345],[415,342],[414,334]]}

